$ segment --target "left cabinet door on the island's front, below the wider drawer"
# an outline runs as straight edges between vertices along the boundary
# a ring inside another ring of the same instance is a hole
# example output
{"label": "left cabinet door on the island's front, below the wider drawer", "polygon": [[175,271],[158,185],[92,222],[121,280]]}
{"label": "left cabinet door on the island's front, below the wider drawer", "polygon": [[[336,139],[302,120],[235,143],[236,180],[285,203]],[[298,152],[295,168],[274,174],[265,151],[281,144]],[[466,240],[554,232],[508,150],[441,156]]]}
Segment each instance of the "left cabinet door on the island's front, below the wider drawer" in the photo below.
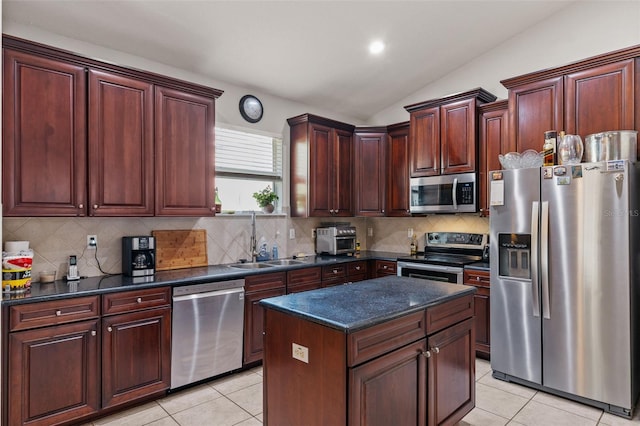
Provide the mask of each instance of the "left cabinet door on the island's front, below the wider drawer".
{"label": "left cabinet door on the island's front, below the wider drawer", "polygon": [[426,339],[349,372],[349,426],[426,424]]}

